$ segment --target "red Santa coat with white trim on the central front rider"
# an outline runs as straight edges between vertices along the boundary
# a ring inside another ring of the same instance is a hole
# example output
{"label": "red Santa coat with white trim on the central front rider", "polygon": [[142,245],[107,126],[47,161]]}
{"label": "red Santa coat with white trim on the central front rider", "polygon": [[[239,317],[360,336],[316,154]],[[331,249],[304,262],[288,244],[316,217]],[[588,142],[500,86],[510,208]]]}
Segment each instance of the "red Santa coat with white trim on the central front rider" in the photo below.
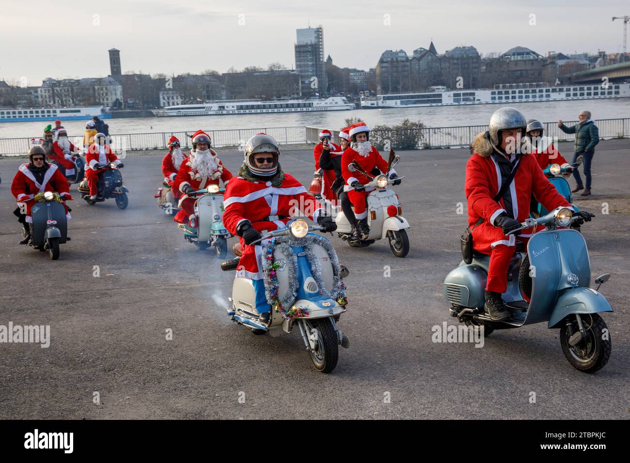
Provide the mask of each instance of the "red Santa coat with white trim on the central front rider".
{"label": "red Santa coat with white trim on the central front rider", "polygon": [[[223,205],[223,224],[236,235],[240,222],[249,220],[258,231],[284,228],[290,217],[301,215],[316,221],[324,209],[299,181],[285,174],[282,185],[273,186],[271,181],[248,181],[235,177],[227,185]],[[260,280],[258,268],[261,246],[247,246],[243,238],[239,276]]]}

